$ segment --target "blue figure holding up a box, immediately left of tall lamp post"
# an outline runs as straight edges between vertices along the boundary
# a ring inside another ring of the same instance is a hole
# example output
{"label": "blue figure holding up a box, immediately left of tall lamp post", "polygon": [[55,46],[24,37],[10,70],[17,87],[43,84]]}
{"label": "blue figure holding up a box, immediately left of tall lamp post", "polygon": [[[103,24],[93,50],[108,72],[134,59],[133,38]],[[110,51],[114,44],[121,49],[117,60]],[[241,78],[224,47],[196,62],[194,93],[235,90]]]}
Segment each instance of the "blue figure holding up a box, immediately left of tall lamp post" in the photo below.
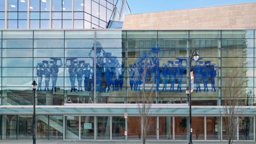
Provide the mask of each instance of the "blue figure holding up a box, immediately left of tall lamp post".
{"label": "blue figure holding up a box, immediately left of tall lamp post", "polygon": [[[180,90],[180,92],[182,92],[181,90],[181,84],[182,84],[182,79],[183,79],[183,74],[185,72],[186,66],[188,66],[188,62],[186,58],[176,58],[176,60],[179,60],[178,62],[176,61],[175,63],[178,64],[177,68],[177,73],[176,73],[176,78],[177,78],[177,83],[178,83],[178,87],[177,87],[177,92]],[[186,61],[186,66],[182,65],[183,60]]]}

